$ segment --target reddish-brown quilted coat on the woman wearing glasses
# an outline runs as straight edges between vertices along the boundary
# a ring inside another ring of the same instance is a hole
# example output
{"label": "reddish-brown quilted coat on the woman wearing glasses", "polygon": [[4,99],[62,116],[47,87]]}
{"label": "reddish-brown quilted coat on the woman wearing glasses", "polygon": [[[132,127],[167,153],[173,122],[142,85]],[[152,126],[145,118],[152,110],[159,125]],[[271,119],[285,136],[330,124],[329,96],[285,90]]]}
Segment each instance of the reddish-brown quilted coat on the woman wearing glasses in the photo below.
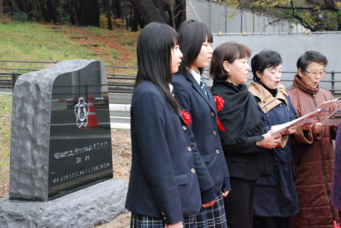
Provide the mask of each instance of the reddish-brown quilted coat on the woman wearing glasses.
{"label": "reddish-brown quilted coat on the woman wearing glasses", "polygon": [[[305,115],[327,100],[332,100],[330,91],[317,87],[308,88],[296,76],[293,85],[287,88],[297,118]],[[332,105],[315,120],[322,122],[337,105]],[[315,227],[332,228],[333,220],[337,219],[337,209],[332,207],[332,178],[334,172],[335,129],[325,126],[322,134],[311,129],[311,144],[292,143],[292,159],[295,172],[295,185],[300,201],[300,213],[291,218],[292,228]]]}

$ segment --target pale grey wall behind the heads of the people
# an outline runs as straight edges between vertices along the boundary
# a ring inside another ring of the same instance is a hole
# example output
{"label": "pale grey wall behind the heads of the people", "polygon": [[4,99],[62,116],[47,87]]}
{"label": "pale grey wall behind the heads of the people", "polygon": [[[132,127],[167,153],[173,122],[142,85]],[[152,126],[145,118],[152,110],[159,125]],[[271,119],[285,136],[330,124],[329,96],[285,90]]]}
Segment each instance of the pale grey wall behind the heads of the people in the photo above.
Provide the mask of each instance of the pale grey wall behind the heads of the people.
{"label": "pale grey wall behind the heads of the people", "polygon": [[[233,18],[228,19],[228,15],[236,11]],[[341,81],[341,32],[316,32],[308,31],[301,25],[292,22],[280,21],[269,24],[274,19],[255,14],[251,11],[232,9],[227,5],[218,2],[204,0],[187,0],[187,19],[195,19],[207,24],[213,32],[213,49],[220,43],[236,41],[243,43],[252,50],[251,58],[262,50],[278,51],[283,58],[282,81],[286,87],[292,85],[292,78],[297,72],[297,59],[305,51],[319,51],[327,56],[328,65],[326,71],[335,71],[335,81]],[[228,19],[227,21],[225,19]],[[219,36],[221,31],[223,34]],[[243,36],[243,32],[246,35]],[[251,58],[249,61],[251,61]],[[253,78],[250,73],[250,80]],[[331,80],[331,73],[323,78],[323,81]],[[208,71],[204,73],[205,78],[209,78]],[[208,80],[210,86],[211,81]],[[249,82],[250,83],[250,82]],[[331,83],[321,83],[326,89],[332,89]],[[335,83],[335,89],[341,93],[341,82]]]}

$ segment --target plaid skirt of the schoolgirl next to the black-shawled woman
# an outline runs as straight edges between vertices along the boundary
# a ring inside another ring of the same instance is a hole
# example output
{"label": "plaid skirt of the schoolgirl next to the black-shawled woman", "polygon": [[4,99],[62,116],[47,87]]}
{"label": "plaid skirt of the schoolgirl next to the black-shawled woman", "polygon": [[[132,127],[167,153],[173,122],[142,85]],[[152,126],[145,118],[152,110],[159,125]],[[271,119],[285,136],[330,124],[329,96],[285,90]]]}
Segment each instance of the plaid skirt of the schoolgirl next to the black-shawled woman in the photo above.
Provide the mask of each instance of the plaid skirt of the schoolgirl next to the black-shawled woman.
{"label": "plaid skirt of the schoolgirl next to the black-shawled woman", "polygon": [[220,192],[215,200],[212,207],[201,207],[200,212],[195,214],[196,228],[228,228],[223,194]]}

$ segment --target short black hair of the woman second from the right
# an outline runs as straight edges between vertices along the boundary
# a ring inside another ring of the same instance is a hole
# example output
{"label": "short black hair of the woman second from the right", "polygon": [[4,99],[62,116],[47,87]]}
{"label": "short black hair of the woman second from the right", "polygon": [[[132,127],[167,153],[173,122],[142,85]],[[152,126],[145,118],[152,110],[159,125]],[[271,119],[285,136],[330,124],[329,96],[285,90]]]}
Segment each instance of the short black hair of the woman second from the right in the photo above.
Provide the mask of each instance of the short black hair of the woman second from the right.
{"label": "short black hair of the woman second from the right", "polygon": [[257,71],[263,73],[266,68],[277,67],[282,64],[282,58],[280,54],[276,51],[260,51],[260,53],[253,56],[251,59],[251,68],[253,71],[253,80],[259,81],[256,74]]}

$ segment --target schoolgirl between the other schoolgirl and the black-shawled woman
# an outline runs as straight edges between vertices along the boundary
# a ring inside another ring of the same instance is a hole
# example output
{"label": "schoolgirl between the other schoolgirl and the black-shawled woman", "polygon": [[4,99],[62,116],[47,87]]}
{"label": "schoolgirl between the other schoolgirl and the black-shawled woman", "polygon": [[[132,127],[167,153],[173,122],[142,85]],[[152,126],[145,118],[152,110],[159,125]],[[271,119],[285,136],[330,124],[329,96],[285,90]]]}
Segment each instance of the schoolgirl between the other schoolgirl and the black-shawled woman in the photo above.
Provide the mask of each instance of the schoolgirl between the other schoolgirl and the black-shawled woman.
{"label": "schoolgirl between the other schoolgirl and the black-shawled woman", "polygon": [[223,197],[231,190],[230,174],[218,135],[217,108],[200,74],[209,66],[213,50],[210,28],[195,20],[184,21],[178,28],[183,62],[178,74],[173,74],[175,99],[181,110],[191,115],[193,130],[201,159],[214,182],[215,204],[203,205],[195,215],[197,228],[227,228]]}

